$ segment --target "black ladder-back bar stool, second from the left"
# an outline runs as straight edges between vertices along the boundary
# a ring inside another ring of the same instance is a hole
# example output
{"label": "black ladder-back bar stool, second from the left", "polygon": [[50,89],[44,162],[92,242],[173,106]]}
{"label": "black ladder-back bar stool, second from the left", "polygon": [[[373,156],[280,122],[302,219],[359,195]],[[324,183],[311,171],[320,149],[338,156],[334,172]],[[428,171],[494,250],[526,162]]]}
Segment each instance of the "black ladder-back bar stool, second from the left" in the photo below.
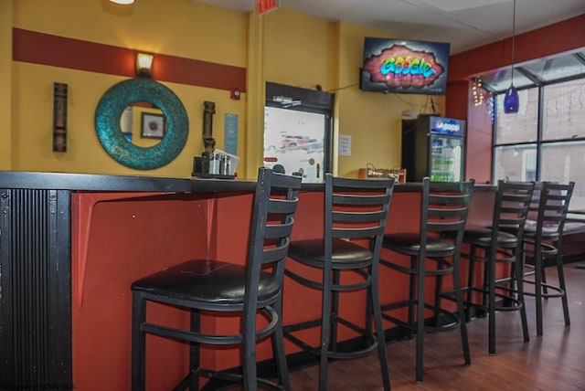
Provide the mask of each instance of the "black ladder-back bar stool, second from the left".
{"label": "black ladder-back bar stool, second from the left", "polygon": [[[293,271],[289,267],[285,270],[287,276],[303,286],[322,291],[322,316],[312,321],[285,325],[284,336],[305,352],[320,357],[320,390],[327,387],[328,359],[361,357],[376,349],[382,384],[385,390],[389,390],[386,342],[379,311],[378,259],[394,179],[346,179],[332,174],[325,174],[324,179],[324,238],[293,241],[289,248],[291,259],[310,269],[323,270],[323,278],[308,278],[301,271]],[[342,281],[341,276],[346,273],[357,278]],[[367,290],[369,302],[364,303],[365,326],[349,322],[340,317],[338,311],[343,297],[340,293],[358,290]],[[376,333],[371,331],[370,312],[374,312]],[[358,338],[365,338],[365,346],[344,351],[338,348],[340,325],[352,330]],[[318,327],[321,327],[319,346],[305,343],[295,334]]]}

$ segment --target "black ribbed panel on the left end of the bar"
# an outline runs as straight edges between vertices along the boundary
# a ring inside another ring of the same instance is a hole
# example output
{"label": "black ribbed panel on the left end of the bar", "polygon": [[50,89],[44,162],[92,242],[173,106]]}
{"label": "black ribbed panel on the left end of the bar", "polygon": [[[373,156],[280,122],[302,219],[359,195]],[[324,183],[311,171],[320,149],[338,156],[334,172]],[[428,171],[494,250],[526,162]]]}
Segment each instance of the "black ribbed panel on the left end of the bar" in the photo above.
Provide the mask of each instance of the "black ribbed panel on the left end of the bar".
{"label": "black ribbed panel on the left end of the bar", "polygon": [[70,192],[0,189],[0,389],[72,389]]}

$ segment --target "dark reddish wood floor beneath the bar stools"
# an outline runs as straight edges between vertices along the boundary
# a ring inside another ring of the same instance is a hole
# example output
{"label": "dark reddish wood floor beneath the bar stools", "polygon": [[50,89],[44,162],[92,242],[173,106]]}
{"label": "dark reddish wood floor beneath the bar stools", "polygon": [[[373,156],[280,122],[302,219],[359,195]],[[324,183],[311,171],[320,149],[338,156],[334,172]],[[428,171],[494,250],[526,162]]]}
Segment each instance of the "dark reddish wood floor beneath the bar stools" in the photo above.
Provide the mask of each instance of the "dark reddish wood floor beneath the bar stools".
{"label": "dark reddish wood floor beneath the bar stools", "polygon": [[[581,264],[585,264],[582,262]],[[585,390],[585,269],[565,266],[571,326],[559,299],[545,303],[544,336],[537,337],[534,298],[527,298],[530,342],[524,343],[518,312],[498,312],[496,355],[487,352],[487,319],[468,323],[472,365],[463,365],[459,331],[425,336],[424,382],[414,375],[414,340],[388,344],[392,390]],[[555,280],[555,269],[548,268]],[[329,390],[379,390],[378,355],[329,365]],[[291,372],[292,389],[316,389],[318,367]]]}

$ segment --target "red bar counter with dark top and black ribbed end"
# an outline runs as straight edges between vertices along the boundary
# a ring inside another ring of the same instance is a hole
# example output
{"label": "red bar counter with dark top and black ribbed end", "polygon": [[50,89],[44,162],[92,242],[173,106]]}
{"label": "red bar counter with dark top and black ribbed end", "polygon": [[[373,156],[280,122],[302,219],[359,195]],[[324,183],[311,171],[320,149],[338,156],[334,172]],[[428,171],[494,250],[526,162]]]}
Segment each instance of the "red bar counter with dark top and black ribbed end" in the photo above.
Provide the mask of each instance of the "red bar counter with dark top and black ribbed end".
{"label": "red bar counter with dark top and black ribbed end", "polygon": [[[0,388],[130,389],[131,283],[185,259],[243,262],[254,187],[245,180],[0,172]],[[469,221],[486,225],[494,187],[476,187]],[[419,191],[420,184],[395,186],[388,232],[418,230]],[[303,185],[293,240],[322,235],[323,185]],[[388,280],[380,284],[383,301],[407,294],[406,280],[379,278]],[[342,309],[356,322],[364,319],[361,295]],[[318,292],[285,280],[285,324],[312,318],[320,304]],[[149,312],[188,324],[186,312]],[[229,332],[239,323],[204,324]],[[186,373],[186,347],[148,341],[147,357],[157,357],[148,359],[149,387],[169,389]],[[292,343],[286,348],[298,352]],[[239,365],[237,349],[207,353],[210,367]],[[259,360],[270,356],[270,343],[260,343]]]}

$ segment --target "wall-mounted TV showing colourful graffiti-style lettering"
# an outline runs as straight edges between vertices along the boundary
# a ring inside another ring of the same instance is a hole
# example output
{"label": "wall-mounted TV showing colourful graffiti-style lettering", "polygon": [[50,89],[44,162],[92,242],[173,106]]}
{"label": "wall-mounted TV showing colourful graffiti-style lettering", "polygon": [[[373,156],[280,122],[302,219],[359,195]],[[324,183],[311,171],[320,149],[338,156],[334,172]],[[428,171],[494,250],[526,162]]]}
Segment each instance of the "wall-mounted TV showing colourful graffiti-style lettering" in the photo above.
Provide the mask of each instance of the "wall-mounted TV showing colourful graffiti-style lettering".
{"label": "wall-mounted TV showing colourful graffiti-style lettering", "polygon": [[366,37],[360,89],[444,95],[449,44]]}

